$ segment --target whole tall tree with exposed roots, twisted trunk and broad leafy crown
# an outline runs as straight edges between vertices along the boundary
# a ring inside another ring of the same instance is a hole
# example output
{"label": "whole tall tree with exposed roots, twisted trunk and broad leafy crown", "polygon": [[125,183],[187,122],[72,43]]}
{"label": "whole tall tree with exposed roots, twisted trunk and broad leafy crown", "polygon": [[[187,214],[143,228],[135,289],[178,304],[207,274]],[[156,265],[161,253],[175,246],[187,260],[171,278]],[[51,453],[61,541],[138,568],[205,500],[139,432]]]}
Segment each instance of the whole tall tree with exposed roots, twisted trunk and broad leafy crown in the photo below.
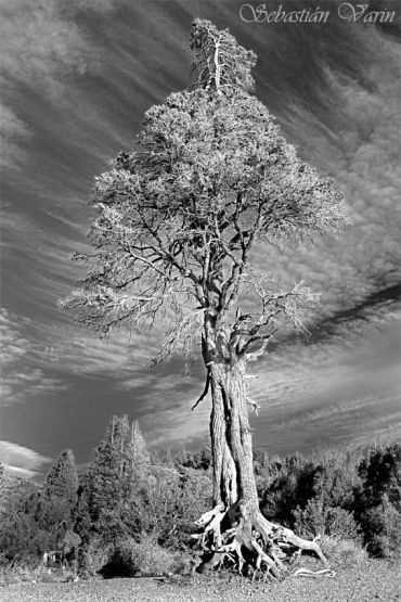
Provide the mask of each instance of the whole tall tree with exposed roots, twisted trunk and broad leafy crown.
{"label": "whole tall tree with exposed roots, twisted trunk and broad leafy crown", "polygon": [[[253,252],[263,245],[269,264],[272,245],[335,233],[342,195],[297,157],[251,94],[253,52],[200,20],[190,44],[191,88],[150,108],[138,150],[120,153],[96,178],[94,251],[75,256],[89,273],[63,306],[102,336],[121,326],[164,328],[155,361],[190,356],[202,343],[206,385],[198,401],[211,390],[216,503],[198,522],[203,543],[236,553],[240,566],[247,549],[247,564],[263,562],[277,574],[279,531],[259,511],[253,472],[248,405],[256,404],[246,366],[277,329],[303,328],[313,294],[301,284],[283,291],[255,269]],[[289,530],[283,537],[288,549],[315,550],[323,560],[314,542]]]}

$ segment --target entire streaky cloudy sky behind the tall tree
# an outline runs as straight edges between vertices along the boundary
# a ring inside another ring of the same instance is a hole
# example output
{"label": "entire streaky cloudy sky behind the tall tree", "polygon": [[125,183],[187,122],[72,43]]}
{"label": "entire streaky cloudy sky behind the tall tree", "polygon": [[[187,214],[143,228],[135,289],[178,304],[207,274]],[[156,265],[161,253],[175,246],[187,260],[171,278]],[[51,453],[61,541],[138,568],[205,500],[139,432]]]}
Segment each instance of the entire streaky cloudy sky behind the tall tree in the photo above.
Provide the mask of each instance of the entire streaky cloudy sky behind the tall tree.
{"label": "entire streaky cloudy sky behind the tall tree", "polygon": [[[194,17],[258,55],[256,94],[303,161],[335,178],[350,225],[336,241],[254,261],[320,294],[310,336],[279,336],[251,366],[256,448],[285,454],[400,434],[400,15],[364,23],[340,1],[283,0],[326,23],[256,23],[237,0],[0,0],[0,460],[42,478],[63,449],[85,467],[113,414],[150,446],[207,441],[195,362],[150,369],[158,334],[108,343],[57,306],[83,274],[93,178],[135,145],[144,112],[191,81]],[[267,2],[273,11],[279,2]],[[353,5],[357,5],[354,2]],[[370,9],[370,10],[371,10]]]}

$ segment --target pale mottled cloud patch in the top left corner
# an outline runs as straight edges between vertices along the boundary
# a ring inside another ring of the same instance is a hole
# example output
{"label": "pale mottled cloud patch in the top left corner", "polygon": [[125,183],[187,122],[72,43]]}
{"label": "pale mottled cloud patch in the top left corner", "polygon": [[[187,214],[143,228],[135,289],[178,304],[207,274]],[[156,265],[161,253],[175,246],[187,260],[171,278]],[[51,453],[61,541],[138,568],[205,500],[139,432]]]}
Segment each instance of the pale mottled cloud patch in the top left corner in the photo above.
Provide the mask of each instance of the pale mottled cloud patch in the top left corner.
{"label": "pale mottled cloud patch in the top left corner", "polygon": [[24,157],[18,146],[31,128],[11,108],[13,91],[24,85],[60,98],[66,75],[72,71],[85,73],[87,48],[78,27],[63,20],[57,3],[51,0],[3,0],[0,16],[5,103],[1,107],[2,164],[14,167]]}

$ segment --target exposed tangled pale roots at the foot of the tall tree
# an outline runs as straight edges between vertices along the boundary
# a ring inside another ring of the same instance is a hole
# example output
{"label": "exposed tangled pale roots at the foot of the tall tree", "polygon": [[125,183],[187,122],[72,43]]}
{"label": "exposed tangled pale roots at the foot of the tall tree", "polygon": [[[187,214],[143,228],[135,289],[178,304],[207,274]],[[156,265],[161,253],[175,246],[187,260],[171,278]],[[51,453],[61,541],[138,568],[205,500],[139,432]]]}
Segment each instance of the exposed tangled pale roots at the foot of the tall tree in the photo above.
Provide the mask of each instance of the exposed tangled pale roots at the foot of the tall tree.
{"label": "exposed tangled pale roots at the foot of the tall tree", "polygon": [[[318,539],[308,541],[288,528],[275,525],[257,510],[249,512],[240,500],[231,508],[217,504],[196,521],[199,533],[193,538],[203,552],[199,573],[232,566],[241,575],[255,578],[282,578],[302,552],[313,552],[327,567],[327,561],[319,547]],[[323,571],[298,569],[296,576],[334,576],[328,568]]]}

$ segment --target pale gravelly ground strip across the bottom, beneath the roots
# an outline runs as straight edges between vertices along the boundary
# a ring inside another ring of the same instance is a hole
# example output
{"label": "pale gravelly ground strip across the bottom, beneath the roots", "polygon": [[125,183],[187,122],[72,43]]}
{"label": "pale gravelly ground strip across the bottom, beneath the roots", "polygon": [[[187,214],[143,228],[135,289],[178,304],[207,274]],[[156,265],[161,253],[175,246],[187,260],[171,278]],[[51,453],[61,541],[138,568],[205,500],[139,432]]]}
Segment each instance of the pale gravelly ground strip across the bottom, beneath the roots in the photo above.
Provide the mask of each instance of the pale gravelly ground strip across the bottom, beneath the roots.
{"label": "pale gravelly ground strip across the bottom, beneath the roots", "polygon": [[91,579],[78,582],[20,582],[0,587],[3,602],[383,602],[401,601],[394,564],[367,561],[329,577],[287,577],[251,585],[222,576]]}

